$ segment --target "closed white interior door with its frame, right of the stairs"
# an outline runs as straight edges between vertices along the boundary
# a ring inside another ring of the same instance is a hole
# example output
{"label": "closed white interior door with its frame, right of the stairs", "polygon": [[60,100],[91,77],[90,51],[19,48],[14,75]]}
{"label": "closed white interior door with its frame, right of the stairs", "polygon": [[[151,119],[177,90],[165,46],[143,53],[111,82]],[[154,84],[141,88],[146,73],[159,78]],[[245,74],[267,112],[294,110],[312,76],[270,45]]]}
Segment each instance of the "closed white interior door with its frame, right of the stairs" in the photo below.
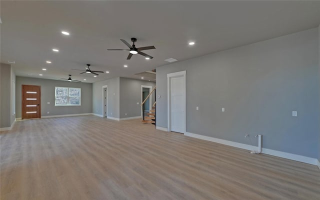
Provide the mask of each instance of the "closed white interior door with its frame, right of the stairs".
{"label": "closed white interior door with its frame, right of the stairs", "polygon": [[[169,74],[168,74],[169,75]],[[185,132],[185,76],[168,76],[169,123],[168,130]]]}

